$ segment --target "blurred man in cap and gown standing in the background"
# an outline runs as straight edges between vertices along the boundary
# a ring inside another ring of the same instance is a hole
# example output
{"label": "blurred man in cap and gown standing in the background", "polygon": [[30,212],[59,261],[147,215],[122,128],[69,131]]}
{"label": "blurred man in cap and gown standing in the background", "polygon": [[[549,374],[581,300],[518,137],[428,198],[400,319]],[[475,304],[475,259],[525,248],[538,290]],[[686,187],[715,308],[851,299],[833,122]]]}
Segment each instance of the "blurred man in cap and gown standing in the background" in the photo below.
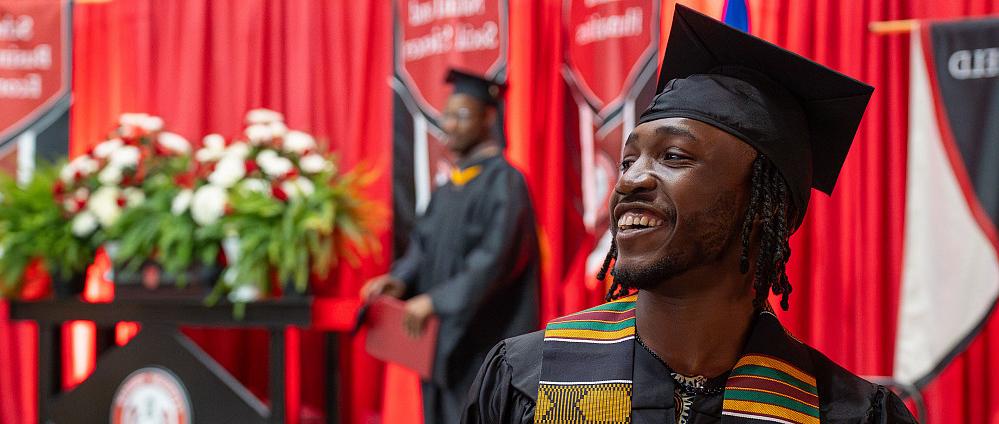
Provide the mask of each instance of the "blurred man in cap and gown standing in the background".
{"label": "blurred man in cap and gown standing in the background", "polygon": [[538,328],[538,241],[524,177],[493,137],[503,87],[451,70],[443,113],[458,167],[434,192],[405,255],[368,282],[365,298],[409,299],[407,331],[440,318],[432,381],[424,381],[426,424],[457,423],[489,349]]}

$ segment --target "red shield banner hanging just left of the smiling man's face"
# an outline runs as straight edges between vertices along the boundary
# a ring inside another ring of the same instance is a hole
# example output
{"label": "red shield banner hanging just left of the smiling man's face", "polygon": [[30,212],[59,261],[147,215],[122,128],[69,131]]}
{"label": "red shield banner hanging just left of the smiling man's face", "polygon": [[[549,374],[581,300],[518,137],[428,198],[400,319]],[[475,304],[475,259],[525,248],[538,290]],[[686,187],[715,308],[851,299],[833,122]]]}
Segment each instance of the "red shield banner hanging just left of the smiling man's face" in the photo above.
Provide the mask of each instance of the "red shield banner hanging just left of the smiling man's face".
{"label": "red shield banner hanging just left of the smiling man's face", "polygon": [[[624,139],[652,100],[659,50],[659,3],[649,0],[566,0],[563,75],[574,108],[567,135],[579,145],[583,223],[591,240],[586,275],[599,268],[610,243],[608,202],[617,182]],[[599,242],[597,242],[599,240]],[[592,253],[592,254],[591,254]],[[587,278],[592,290],[595,280]]]}

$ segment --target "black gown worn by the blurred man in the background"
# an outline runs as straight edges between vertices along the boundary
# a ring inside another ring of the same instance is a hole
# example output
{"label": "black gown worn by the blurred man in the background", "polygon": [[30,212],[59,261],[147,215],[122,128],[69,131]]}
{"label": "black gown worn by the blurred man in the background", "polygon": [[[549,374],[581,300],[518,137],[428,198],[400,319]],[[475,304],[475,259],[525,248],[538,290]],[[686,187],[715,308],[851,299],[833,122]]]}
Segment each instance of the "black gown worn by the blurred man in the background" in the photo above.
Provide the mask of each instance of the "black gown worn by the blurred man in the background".
{"label": "black gown worn by the blurred man in the background", "polygon": [[407,297],[433,299],[441,320],[433,382],[462,394],[492,346],[538,328],[539,248],[524,177],[502,155],[462,169],[475,166],[470,181],[434,192],[391,271]]}

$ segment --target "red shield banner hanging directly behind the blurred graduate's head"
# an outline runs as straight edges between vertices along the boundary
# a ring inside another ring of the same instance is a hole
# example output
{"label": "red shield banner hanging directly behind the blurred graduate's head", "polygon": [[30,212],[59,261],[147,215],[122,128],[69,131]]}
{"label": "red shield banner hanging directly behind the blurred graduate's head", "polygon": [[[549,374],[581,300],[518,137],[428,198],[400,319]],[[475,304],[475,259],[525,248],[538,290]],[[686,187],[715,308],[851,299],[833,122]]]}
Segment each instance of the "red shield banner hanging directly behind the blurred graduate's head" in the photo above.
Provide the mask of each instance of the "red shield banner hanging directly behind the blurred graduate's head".
{"label": "red shield banner hanging directly behind the blurred graduate's head", "polygon": [[452,164],[440,128],[451,94],[444,82],[447,70],[505,82],[508,24],[505,0],[398,0],[394,5],[392,191],[398,256],[414,219],[426,209],[434,188],[447,181]]}

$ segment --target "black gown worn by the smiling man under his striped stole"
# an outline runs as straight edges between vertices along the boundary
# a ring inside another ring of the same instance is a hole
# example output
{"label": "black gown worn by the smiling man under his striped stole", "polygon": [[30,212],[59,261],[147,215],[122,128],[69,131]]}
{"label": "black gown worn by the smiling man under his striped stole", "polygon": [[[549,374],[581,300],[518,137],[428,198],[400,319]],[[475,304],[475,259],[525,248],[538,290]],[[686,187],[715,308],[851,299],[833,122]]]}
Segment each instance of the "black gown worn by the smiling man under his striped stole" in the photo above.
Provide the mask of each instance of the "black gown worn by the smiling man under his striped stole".
{"label": "black gown worn by the smiling man under his striped stole", "polygon": [[[534,422],[543,340],[544,332],[538,331],[505,340],[489,353],[469,391],[462,423]],[[810,363],[820,395],[822,423],[916,422],[894,393],[853,375],[783,332],[772,332],[765,340],[755,342],[775,346],[775,351],[790,356],[801,355]],[[635,344],[632,423],[675,423],[674,385],[668,369],[637,342],[632,343]],[[719,423],[721,408],[721,395],[697,399],[687,422]]]}

